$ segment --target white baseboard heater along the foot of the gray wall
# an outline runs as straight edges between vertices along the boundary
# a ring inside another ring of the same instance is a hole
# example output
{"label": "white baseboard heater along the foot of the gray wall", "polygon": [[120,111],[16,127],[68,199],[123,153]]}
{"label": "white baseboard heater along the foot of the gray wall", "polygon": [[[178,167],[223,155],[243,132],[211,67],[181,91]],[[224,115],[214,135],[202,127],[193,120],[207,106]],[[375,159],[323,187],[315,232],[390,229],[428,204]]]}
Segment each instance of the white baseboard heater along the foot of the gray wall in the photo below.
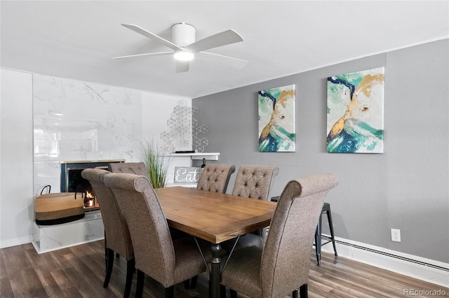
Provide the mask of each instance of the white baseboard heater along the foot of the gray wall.
{"label": "white baseboard heater along the foot of the gray wall", "polygon": [[[329,235],[323,234],[330,239]],[[326,241],[323,239],[323,241]],[[449,264],[409,255],[379,246],[335,237],[339,257],[379,267],[398,274],[434,283],[449,288]],[[332,243],[321,248],[326,253],[334,253]]]}

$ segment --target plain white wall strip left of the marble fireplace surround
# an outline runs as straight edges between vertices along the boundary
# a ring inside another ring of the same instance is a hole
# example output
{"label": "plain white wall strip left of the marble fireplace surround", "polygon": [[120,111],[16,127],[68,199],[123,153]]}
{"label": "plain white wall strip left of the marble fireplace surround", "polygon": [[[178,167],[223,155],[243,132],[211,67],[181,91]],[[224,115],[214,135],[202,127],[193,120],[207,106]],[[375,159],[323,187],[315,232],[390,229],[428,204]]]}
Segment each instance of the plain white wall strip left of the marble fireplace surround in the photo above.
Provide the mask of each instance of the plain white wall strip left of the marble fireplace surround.
{"label": "plain white wall strip left of the marble fireplace surround", "polygon": [[0,70],[0,246],[32,241],[32,74]]}

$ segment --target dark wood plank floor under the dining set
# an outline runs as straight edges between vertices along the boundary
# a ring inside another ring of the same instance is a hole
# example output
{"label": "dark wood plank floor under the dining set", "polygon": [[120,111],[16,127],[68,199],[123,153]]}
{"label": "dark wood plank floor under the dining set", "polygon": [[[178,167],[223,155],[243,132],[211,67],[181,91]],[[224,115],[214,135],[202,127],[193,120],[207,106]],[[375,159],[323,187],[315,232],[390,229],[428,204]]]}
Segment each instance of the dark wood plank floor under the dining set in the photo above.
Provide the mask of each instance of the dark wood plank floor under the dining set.
{"label": "dark wood plank floor under the dining set", "polygon": [[[0,250],[0,297],[122,297],[126,261],[116,258],[108,288],[104,242],[74,246],[38,255],[31,244]],[[324,253],[316,266],[311,257],[309,297],[405,297],[404,290],[449,289],[390,271]],[[175,297],[208,297],[207,279],[200,276],[194,290],[176,285]],[[131,297],[135,295],[135,278]],[[144,297],[163,297],[163,288],[145,279]],[[228,292],[229,297],[229,292]],[[239,296],[244,297],[244,296]],[[423,297],[423,296],[414,296]]]}

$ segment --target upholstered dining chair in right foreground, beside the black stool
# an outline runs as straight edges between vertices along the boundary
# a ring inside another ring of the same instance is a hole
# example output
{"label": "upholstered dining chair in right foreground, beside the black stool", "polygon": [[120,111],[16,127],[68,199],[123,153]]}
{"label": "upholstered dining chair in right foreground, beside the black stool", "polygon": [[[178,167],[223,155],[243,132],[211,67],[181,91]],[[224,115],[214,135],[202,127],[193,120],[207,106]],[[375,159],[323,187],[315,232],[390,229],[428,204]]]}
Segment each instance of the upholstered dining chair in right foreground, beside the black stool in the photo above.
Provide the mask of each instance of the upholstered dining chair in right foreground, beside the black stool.
{"label": "upholstered dining chair in right foreground, beside the black stool", "polygon": [[307,297],[312,243],[323,201],[337,186],[335,174],[291,180],[284,188],[263,248],[237,250],[222,271],[222,285],[253,298]]}

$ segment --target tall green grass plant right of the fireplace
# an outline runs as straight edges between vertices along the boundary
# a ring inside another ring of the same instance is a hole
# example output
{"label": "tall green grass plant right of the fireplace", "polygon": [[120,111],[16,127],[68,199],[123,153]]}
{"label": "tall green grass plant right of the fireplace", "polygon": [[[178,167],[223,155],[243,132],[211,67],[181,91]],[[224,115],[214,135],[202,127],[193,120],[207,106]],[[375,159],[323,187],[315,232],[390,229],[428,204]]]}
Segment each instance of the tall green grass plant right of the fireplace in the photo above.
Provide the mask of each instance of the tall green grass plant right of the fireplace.
{"label": "tall green grass plant right of the fireplace", "polygon": [[145,141],[145,166],[147,166],[149,183],[153,188],[166,186],[169,160],[163,157],[163,153],[153,141]]}

